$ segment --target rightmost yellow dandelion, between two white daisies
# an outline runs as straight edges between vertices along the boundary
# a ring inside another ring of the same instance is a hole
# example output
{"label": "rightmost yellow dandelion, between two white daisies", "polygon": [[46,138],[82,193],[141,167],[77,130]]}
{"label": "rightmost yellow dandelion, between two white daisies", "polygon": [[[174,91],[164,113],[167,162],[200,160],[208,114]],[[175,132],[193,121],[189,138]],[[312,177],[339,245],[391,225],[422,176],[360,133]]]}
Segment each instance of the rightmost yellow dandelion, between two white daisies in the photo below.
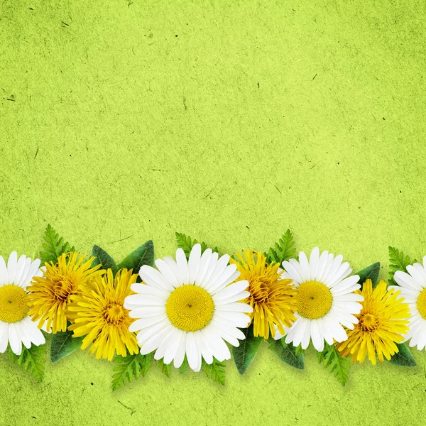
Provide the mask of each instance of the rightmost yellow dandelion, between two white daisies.
{"label": "rightmost yellow dandelion, between two white daisies", "polygon": [[376,354],[383,362],[383,356],[391,359],[398,352],[396,343],[403,341],[402,334],[408,332],[409,307],[402,298],[398,298],[399,291],[387,290],[386,283],[381,280],[375,289],[371,280],[366,280],[362,293],[364,302],[362,310],[355,315],[359,322],[353,330],[348,330],[348,339],[337,345],[342,356],[352,355],[352,362],[362,363],[368,359],[376,365]]}

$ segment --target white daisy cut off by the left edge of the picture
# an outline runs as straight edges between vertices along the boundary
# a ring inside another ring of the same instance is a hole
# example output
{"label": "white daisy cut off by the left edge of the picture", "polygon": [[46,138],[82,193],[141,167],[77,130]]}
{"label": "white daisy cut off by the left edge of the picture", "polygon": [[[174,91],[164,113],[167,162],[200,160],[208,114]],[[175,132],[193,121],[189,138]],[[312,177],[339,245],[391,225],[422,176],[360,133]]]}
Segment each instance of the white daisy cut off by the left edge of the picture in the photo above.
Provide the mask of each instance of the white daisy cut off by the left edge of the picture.
{"label": "white daisy cut off by the left edge of the picture", "polygon": [[21,256],[16,251],[4,262],[0,256],[0,353],[8,343],[14,354],[21,355],[22,344],[29,349],[31,344],[45,343],[43,333],[28,316],[27,286],[35,276],[41,276],[40,260]]}

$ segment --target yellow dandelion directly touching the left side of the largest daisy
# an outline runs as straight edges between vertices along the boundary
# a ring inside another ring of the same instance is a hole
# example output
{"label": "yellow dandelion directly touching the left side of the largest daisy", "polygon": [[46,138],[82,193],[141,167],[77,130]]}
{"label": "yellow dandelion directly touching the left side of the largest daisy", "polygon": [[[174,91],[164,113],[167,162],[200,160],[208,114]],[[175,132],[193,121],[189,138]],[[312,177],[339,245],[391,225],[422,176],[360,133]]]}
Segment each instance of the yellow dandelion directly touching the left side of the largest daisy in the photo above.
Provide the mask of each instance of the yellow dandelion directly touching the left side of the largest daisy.
{"label": "yellow dandelion directly touching the left side of the largest daisy", "polygon": [[132,270],[121,269],[114,279],[108,269],[106,275],[98,275],[82,288],[79,295],[71,297],[68,310],[73,324],[68,329],[74,332],[74,337],[87,334],[82,349],[92,344],[89,354],[96,351],[96,359],[102,356],[111,361],[115,351],[126,356],[126,348],[130,354],[139,351],[136,335],[129,332],[129,325],[134,320],[124,308],[125,297],[134,294],[130,286],[136,283],[137,277]]}

